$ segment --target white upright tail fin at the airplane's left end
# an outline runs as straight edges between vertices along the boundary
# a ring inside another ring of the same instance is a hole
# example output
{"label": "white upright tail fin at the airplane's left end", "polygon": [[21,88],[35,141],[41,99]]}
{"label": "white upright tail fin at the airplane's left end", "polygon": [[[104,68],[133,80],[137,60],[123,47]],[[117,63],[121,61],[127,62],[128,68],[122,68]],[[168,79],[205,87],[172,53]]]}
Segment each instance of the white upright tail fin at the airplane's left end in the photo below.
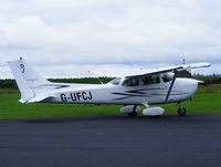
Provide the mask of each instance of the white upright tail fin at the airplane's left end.
{"label": "white upright tail fin at the airplane's left end", "polygon": [[19,86],[21,103],[25,103],[35,97],[36,94],[42,93],[42,90],[36,88],[38,86],[50,84],[49,81],[36,73],[24,60],[20,59],[8,63]]}

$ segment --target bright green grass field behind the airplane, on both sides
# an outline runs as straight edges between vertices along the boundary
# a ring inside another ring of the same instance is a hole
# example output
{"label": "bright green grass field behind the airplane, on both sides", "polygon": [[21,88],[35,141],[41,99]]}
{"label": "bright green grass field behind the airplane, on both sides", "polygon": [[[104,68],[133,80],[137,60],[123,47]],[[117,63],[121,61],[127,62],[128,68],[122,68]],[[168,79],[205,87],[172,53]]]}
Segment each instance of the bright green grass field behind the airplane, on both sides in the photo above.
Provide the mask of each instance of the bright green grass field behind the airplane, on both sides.
{"label": "bright green grass field behind the airplane, on both sides", "polygon": [[[21,104],[15,90],[0,90],[0,119],[76,115],[118,115],[120,105]],[[161,105],[166,113],[177,113],[176,104]],[[200,86],[192,101],[182,103],[189,113],[221,112],[221,84]]]}

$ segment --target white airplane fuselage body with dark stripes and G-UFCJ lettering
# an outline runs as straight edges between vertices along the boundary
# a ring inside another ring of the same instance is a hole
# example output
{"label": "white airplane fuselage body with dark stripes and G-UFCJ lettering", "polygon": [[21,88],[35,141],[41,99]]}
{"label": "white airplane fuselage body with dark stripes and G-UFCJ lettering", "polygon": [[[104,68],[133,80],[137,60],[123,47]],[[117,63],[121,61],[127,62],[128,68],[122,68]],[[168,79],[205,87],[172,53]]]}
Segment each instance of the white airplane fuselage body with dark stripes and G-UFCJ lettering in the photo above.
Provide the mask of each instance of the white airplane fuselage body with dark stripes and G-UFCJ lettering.
{"label": "white airplane fuselage body with dark stripes and G-UFCJ lettering", "polygon": [[[168,101],[170,82],[150,85],[123,86],[122,84],[57,84],[64,88],[53,88],[53,97],[41,103],[65,104],[164,104],[181,102],[190,98],[198,88],[199,81],[193,79],[177,77]],[[54,84],[56,85],[56,84]],[[46,87],[49,91],[49,87]]]}

